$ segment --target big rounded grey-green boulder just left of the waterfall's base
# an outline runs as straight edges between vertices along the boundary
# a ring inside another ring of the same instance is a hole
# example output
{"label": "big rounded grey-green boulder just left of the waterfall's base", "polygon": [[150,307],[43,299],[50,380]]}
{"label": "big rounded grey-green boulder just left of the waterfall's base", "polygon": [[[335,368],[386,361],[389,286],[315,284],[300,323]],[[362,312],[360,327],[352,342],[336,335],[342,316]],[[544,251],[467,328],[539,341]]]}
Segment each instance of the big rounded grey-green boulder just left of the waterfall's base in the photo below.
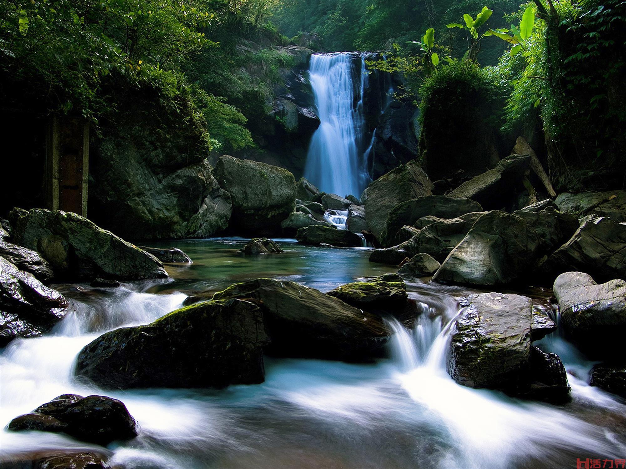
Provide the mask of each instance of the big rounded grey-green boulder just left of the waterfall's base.
{"label": "big rounded grey-green boulder just left of the waterfall's base", "polygon": [[230,193],[230,227],[249,235],[280,235],[280,222],[295,208],[294,175],[287,169],[249,159],[220,156],[213,171]]}

